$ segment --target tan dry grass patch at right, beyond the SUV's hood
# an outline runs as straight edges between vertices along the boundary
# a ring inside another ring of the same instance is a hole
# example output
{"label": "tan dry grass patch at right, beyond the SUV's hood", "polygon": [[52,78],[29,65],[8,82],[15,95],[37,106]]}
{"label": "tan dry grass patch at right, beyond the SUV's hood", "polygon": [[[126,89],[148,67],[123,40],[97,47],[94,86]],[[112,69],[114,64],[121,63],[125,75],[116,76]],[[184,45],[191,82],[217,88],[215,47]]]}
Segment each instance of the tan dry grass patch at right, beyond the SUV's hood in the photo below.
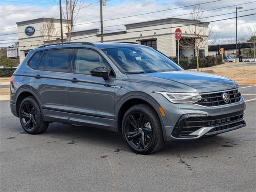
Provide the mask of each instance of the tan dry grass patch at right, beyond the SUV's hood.
{"label": "tan dry grass patch at right, beyond the SUV's hood", "polygon": [[[214,74],[228,77],[235,81],[255,81],[256,66],[243,66],[234,68],[212,68],[211,70],[202,70],[203,72],[213,71]],[[212,73],[212,72],[210,72]]]}

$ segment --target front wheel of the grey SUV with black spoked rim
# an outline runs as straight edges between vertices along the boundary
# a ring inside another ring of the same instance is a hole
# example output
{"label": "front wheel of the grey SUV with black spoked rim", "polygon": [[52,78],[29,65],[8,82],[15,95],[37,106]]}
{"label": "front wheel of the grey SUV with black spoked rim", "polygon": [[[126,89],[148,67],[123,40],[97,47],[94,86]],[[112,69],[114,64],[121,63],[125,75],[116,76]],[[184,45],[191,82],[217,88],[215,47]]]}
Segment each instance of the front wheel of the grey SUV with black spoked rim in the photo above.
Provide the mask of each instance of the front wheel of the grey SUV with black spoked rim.
{"label": "front wheel of the grey SUV with black spoked rim", "polygon": [[126,111],[122,134],[128,147],[138,154],[151,154],[164,146],[160,120],[148,104],[135,105]]}

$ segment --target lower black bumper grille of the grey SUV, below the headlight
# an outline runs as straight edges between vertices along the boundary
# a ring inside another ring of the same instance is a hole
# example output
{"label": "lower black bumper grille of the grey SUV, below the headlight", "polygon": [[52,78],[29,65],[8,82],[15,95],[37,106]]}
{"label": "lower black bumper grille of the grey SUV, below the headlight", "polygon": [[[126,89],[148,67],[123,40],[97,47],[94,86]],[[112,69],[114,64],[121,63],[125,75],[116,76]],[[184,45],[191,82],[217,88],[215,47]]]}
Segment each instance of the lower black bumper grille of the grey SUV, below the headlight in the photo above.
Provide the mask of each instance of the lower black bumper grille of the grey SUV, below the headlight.
{"label": "lower black bumper grille of the grey SUV, below the headlight", "polygon": [[195,132],[196,130],[202,127],[210,127],[210,126],[214,126],[214,128],[211,131],[232,128],[234,126],[243,124],[244,123],[243,118],[244,118],[244,111],[238,111],[238,112],[218,115],[218,116],[185,114],[176,123],[174,130],[172,132],[172,135],[175,137],[190,137],[191,136],[190,134]]}

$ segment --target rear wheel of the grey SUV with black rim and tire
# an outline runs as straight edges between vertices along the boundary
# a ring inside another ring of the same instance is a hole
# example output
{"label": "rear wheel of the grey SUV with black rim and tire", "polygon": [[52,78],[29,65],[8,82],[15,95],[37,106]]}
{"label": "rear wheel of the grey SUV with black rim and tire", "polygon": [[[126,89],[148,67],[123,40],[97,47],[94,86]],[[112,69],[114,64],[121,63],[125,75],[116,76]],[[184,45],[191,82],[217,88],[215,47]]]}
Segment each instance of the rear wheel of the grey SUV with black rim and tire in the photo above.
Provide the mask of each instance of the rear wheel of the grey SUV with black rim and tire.
{"label": "rear wheel of the grey SUV with black rim and tire", "polygon": [[48,122],[43,121],[42,112],[34,97],[26,97],[22,100],[19,117],[22,128],[28,134],[43,133],[49,125]]}

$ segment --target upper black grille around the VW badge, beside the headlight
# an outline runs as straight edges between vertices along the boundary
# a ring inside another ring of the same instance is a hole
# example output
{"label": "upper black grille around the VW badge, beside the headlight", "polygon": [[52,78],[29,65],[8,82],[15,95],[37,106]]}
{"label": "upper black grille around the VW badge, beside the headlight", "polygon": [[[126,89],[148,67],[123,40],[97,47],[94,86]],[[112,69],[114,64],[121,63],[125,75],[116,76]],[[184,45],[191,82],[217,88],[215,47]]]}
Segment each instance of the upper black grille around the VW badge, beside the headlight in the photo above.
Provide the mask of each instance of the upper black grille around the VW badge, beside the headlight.
{"label": "upper black grille around the VW badge, beside the headlight", "polygon": [[[225,103],[222,99],[222,94],[224,92],[226,92],[230,98],[228,103]],[[231,90],[231,91],[216,92],[216,93],[200,94],[200,95],[202,99],[196,102],[196,104],[206,106],[206,107],[235,103],[240,101],[240,97],[241,97],[241,94],[238,91],[238,89]]]}

